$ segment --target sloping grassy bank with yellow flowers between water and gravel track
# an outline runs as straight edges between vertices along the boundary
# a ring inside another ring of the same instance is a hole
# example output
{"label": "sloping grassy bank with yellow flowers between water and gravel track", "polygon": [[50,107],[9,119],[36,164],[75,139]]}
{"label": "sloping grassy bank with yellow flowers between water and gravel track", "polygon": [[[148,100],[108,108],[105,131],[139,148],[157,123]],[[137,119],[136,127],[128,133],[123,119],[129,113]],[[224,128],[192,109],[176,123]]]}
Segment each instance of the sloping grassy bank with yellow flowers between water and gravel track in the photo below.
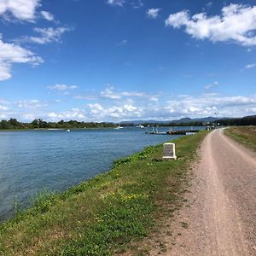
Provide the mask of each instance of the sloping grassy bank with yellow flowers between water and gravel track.
{"label": "sloping grassy bank with yellow flowers between water and gravel track", "polygon": [[136,242],[156,232],[180,204],[189,163],[205,135],[177,139],[176,161],[161,160],[162,145],[148,147],[65,193],[38,197],[0,227],[0,255],[136,251]]}

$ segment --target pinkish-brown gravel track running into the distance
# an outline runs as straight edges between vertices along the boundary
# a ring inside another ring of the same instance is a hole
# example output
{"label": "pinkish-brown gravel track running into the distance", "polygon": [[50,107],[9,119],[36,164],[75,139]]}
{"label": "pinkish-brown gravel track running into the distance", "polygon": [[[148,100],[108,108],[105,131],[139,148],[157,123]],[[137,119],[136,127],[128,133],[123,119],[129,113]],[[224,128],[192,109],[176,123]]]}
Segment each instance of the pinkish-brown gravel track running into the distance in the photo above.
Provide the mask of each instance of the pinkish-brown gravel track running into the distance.
{"label": "pinkish-brown gravel track running into the distance", "polygon": [[166,255],[256,255],[256,154],[212,131]]}

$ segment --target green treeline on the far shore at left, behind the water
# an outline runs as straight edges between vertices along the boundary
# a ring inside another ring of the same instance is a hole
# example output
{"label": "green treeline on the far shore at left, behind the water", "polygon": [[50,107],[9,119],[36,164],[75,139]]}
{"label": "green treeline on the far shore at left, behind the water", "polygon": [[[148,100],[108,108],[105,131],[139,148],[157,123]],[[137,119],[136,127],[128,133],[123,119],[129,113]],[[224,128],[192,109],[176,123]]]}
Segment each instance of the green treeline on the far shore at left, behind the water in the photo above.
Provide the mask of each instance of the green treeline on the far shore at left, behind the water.
{"label": "green treeline on the far shore at left, behind the water", "polygon": [[0,130],[15,129],[84,129],[84,128],[108,128],[115,127],[113,123],[79,122],[76,120],[46,122],[42,119],[34,119],[31,123],[21,123],[17,119],[2,120]]}

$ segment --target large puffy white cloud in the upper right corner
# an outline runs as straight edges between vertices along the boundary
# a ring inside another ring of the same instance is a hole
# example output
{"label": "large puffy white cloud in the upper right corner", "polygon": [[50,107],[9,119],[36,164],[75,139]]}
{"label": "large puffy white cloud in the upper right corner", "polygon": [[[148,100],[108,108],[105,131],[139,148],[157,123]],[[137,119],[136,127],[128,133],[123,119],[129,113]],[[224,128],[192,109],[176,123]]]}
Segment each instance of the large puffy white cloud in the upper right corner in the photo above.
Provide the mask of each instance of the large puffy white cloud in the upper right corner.
{"label": "large puffy white cloud in the upper right corner", "polygon": [[220,16],[210,17],[205,13],[190,17],[189,11],[184,10],[170,15],[166,26],[185,26],[185,32],[197,39],[253,46],[256,45],[256,6],[230,4],[221,10]]}

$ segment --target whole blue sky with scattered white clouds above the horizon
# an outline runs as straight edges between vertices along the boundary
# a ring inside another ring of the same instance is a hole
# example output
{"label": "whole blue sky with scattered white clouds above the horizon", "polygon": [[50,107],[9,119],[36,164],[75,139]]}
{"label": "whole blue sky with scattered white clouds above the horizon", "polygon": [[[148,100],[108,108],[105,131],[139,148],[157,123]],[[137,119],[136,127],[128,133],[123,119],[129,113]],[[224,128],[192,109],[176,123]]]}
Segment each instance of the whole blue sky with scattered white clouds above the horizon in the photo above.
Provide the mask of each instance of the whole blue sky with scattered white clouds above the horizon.
{"label": "whole blue sky with scattered white clouds above the horizon", "polygon": [[0,119],[256,114],[256,3],[0,0]]}

